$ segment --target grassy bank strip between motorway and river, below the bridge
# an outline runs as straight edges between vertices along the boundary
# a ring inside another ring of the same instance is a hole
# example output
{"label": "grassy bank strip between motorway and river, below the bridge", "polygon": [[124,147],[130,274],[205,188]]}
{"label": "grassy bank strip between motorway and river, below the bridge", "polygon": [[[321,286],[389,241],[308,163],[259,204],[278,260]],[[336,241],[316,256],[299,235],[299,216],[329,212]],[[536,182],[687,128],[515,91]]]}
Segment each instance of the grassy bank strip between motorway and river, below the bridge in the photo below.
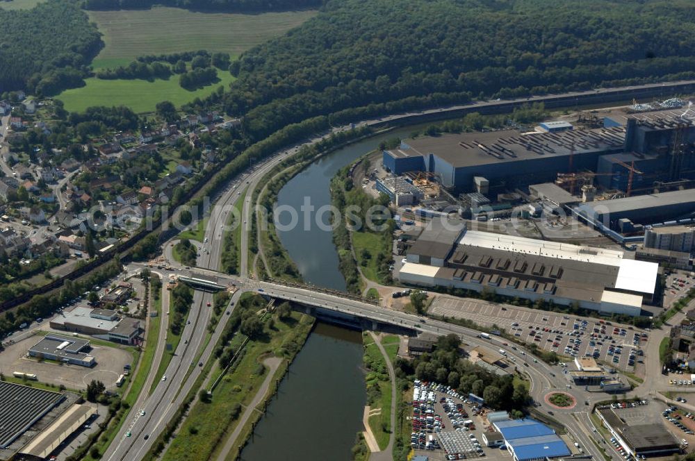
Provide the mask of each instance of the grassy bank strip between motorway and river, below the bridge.
{"label": "grassy bank strip between motorway and river, below the bridge", "polygon": [[[185,459],[190,453],[196,453],[199,459],[214,458],[224,446],[225,437],[236,428],[246,405],[259,392],[259,387],[268,372],[263,360],[277,356],[286,359],[285,362],[291,362],[302,348],[313,326],[313,317],[297,312],[288,312],[288,315],[283,317],[277,314],[259,317],[259,311],[265,308],[265,305],[265,300],[257,295],[246,295],[240,299],[234,310],[234,317],[229,319],[217,348],[217,351],[222,349],[222,353],[213,369],[211,383],[220,376],[227,365],[230,365],[229,369],[220,379],[218,387],[213,390],[212,396],[197,401],[190,408],[186,421],[163,455],[163,460]],[[261,320],[261,331],[249,338],[241,352],[240,347],[245,339],[243,325],[250,318]],[[235,340],[236,337],[240,339]],[[227,344],[229,346],[226,346]],[[227,349],[232,351],[231,354]],[[231,357],[229,362],[223,360],[227,355],[231,355],[234,361],[231,361]],[[276,376],[281,376],[282,373],[284,367],[278,369]],[[269,394],[275,392],[275,385],[268,390]],[[264,402],[265,399],[262,399],[257,410],[263,410]],[[260,414],[259,411],[254,413]],[[257,416],[252,417],[253,421],[256,419]],[[243,434],[240,435],[228,458],[236,458],[238,446],[243,446],[245,442],[244,437]]]}

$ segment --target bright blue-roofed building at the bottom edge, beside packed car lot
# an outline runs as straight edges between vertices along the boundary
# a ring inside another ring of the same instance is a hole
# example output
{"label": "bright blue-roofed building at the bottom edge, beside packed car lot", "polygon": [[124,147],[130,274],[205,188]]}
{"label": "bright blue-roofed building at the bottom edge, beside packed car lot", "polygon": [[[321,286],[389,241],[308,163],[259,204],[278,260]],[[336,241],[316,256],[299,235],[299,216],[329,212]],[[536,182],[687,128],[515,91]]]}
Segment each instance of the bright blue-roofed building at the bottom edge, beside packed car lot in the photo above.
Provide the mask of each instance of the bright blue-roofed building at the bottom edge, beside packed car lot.
{"label": "bright blue-roofed building at the bottom edge, beside packed car lot", "polygon": [[555,430],[534,419],[495,421],[492,425],[504,437],[514,461],[541,461],[571,454]]}

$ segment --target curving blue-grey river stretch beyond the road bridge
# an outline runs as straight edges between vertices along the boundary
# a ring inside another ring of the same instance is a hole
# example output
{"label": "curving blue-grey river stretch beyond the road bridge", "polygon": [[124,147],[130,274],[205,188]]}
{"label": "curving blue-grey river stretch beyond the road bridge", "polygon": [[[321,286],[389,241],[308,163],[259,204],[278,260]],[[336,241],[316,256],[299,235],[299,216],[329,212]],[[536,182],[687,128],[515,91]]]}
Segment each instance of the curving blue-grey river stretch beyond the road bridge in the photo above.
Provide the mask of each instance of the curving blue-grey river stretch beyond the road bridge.
{"label": "curving blue-grey river stretch beyond the road bridge", "polygon": [[[345,278],[338,270],[338,252],[333,244],[333,234],[316,224],[316,212],[309,215],[311,226],[303,225],[304,214],[300,210],[305,201],[309,201],[313,210],[330,205],[330,183],[339,169],[350,165],[369,151],[373,151],[383,140],[392,137],[404,139],[422,126],[425,125],[398,128],[338,149],[306,167],[282,187],[277,196],[277,206],[297,210],[300,213],[300,219],[299,225],[289,230],[278,229],[278,235],[299,268],[304,281],[321,287],[345,291]],[[329,226],[329,213],[322,214],[322,218],[323,224]],[[289,224],[290,220],[288,214],[281,213],[279,215],[280,224]]]}

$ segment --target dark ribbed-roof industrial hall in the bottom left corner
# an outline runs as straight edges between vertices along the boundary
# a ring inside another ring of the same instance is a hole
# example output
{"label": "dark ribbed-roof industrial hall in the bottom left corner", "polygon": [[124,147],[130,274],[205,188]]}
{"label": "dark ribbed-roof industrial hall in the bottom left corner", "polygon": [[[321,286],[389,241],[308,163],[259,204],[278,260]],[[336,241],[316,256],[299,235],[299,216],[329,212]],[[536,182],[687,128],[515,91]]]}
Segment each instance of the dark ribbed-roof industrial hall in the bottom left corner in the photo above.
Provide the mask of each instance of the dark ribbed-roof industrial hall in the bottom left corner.
{"label": "dark ribbed-roof industrial hall in the bottom left corner", "polygon": [[58,392],[0,381],[0,449],[6,449],[65,399]]}

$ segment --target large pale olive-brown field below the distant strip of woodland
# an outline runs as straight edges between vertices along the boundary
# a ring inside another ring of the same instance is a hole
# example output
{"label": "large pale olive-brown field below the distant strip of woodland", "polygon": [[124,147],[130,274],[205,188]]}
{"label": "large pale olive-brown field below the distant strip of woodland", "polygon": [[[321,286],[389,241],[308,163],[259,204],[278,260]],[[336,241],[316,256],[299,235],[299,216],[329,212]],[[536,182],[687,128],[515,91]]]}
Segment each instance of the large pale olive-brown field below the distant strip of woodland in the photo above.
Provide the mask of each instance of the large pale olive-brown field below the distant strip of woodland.
{"label": "large pale olive-brown field below the distant strip of woodland", "polygon": [[191,12],[179,8],[90,11],[90,19],[97,23],[106,44],[93,65],[113,67],[127,64],[138,56],[199,49],[238,56],[314,15],[313,10],[260,15]]}

